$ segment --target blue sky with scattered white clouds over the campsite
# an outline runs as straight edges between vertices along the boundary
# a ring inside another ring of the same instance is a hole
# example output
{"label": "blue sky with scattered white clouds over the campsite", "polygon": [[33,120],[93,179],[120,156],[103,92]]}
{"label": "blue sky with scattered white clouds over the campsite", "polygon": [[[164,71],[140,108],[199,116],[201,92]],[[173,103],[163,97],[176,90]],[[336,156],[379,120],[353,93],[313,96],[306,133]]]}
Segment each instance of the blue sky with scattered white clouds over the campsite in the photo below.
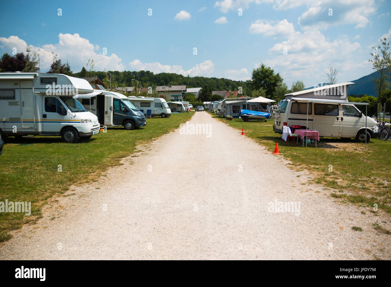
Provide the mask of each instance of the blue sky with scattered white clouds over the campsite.
{"label": "blue sky with scattered white clouds over the campsite", "polygon": [[25,52],[29,45],[39,51],[44,72],[52,52],[69,61],[74,72],[94,59],[95,70],[233,80],[248,79],[264,62],[288,86],[302,80],[309,87],[326,80],[330,64],[339,69],[338,82],[373,72],[368,62],[371,47],[380,37],[391,37],[389,1],[70,0],[34,5],[18,1],[17,7],[15,3],[2,3],[0,53],[12,53],[14,48]]}

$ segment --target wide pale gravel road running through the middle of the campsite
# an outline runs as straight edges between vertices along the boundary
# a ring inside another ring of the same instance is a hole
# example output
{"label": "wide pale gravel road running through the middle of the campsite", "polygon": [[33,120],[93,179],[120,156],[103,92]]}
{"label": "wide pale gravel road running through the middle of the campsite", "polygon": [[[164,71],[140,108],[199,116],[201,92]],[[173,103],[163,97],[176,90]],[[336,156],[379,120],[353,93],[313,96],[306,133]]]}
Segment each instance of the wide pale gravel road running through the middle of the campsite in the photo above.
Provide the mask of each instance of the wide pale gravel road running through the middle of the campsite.
{"label": "wide pale gravel road running through the middle of the campsite", "polygon": [[[0,259],[391,258],[391,236],[371,226],[391,229],[387,217],[336,202],[306,183],[308,172],[206,112],[188,123],[210,125],[210,137],[178,129],[140,146],[98,182],[53,198]],[[276,200],[300,212],[270,212]]]}

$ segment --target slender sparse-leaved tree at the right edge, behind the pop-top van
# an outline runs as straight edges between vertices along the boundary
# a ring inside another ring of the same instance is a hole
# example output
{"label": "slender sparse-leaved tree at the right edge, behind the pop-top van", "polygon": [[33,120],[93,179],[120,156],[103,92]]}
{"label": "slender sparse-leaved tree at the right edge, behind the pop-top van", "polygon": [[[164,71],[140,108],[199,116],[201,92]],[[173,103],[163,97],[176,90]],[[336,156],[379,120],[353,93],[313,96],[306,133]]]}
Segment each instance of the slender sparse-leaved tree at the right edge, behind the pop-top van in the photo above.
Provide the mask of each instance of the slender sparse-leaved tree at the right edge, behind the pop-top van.
{"label": "slender sparse-leaved tree at the right edge, behind the pop-top van", "polygon": [[[372,62],[373,64],[372,69],[379,72],[377,77],[373,79],[373,85],[375,86],[375,91],[377,92],[379,100],[381,94],[390,88],[389,73],[391,69],[389,43],[386,42],[387,38],[385,37],[380,41],[382,47],[380,45],[377,48],[372,47],[373,53],[371,53],[371,56],[373,59],[369,59],[369,62]],[[381,56],[379,55],[378,50],[380,50]],[[379,101],[379,103],[381,106],[382,102]]]}

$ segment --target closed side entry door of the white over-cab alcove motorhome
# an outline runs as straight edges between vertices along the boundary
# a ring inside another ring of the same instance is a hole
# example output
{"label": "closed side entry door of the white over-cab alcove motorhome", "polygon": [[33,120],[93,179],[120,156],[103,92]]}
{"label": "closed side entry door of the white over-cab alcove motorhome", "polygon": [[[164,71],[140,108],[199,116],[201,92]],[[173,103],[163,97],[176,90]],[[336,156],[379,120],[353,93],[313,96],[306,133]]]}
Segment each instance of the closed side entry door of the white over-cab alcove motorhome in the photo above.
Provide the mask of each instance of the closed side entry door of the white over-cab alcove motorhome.
{"label": "closed side entry door of the white over-cab alcove motorhome", "polygon": [[35,95],[32,80],[20,81],[20,109],[23,128],[35,127]]}

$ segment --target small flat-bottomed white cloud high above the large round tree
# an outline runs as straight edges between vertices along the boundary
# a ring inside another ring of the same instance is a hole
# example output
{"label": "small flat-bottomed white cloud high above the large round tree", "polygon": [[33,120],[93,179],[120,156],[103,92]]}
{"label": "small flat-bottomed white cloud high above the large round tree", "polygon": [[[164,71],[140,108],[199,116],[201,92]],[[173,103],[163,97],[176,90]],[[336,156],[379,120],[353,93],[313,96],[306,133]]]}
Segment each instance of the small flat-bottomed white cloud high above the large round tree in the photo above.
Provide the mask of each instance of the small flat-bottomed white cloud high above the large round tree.
{"label": "small flat-bottomed white cloud high above the large round tree", "polygon": [[271,23],[256,20],[255,23],[251,24],[249,32],[253,34],[264,34],[264,36],[289,36],[294,33],[294,27],[286,19],[278,22],[274,26]]}

